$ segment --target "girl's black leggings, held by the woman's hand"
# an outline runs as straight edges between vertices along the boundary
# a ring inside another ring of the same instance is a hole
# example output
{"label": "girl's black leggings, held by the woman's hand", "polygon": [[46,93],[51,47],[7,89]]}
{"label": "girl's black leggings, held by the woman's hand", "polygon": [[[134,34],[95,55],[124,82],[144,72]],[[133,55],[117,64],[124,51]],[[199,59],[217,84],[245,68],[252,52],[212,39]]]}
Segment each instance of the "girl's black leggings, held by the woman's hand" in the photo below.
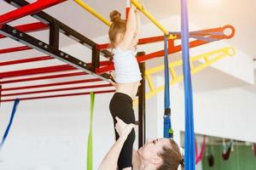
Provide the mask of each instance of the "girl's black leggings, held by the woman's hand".
{"label": "girl's black leggings, held by the woman's hand", "polygon": [[[109,110],[113,117],[113,126],[115,126],[115,116],[118,116],[125,123],[135,123],[135,115],[132,109],[132,99],[127,94],[115,93],[109,104]],[[119,139],[119,135],[115,132],[115,139]],[[125,167],[132,167],[132,150],[135,140],[135,131],[131,133],[125,140],[125,144],[119,154],[118,167],[119,170]]]}

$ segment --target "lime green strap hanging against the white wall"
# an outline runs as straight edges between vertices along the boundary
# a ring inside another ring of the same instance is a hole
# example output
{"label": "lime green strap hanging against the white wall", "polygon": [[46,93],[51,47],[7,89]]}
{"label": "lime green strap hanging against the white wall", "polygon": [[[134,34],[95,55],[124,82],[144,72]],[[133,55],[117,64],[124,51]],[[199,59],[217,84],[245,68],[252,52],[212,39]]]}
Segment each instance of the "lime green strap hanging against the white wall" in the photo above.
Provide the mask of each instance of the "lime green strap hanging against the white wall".
{"label": "lime green strap hanging against the white wall", "polygon": [[87,170],[93,170],[93,155],[92,155],[92,122],[93,122],[93,110],[94,110],[94,99],[95,94],[90,92],[90,127],[88,135],[88,145],[87,145]]}

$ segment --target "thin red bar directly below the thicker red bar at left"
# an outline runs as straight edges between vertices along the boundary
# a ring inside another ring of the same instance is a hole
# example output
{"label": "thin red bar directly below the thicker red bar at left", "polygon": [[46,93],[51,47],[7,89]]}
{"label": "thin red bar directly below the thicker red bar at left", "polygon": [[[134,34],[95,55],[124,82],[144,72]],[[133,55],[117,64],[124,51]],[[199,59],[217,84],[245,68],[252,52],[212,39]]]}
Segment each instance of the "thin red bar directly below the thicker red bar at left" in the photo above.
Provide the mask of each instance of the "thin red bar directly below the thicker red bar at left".
{"label": "thin red bar directly below the thicker red bar at left", "polygon": [[35,81],[35,80],[54,79],[54,78],[61,78],[61,77],[77,77],[77,76],[84,76],[87,74],[88,73],[82,71],[82,72],[43,76],[43,77],[20,78],[20,79],[15,79],[15,80],[2,81],[2,82],[0,82],[0,84],[7,84],[7,83],[14,83],[14,82],[29,82],[29,81]]}

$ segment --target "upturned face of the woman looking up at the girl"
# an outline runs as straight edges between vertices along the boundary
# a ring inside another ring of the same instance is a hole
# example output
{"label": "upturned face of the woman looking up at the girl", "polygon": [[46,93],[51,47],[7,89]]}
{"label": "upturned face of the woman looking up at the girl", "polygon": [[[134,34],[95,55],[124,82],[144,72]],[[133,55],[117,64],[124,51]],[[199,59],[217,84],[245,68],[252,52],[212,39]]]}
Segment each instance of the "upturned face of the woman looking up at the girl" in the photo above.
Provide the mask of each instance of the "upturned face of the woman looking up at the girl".
{"label": "upturned face of the woman looking up at the girl", "polygon": [[137,152],[144,160],[159,158],[163,147],[171,147],[169,139],[149,139]]}

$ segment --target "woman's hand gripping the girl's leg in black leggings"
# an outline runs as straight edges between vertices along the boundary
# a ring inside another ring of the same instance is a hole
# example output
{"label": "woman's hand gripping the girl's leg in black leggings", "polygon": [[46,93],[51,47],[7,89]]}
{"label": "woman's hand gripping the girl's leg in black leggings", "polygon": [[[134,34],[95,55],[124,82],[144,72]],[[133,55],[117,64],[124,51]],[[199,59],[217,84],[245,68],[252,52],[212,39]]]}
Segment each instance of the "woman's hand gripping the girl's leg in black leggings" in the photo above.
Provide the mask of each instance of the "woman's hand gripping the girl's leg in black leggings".
{"label": "woman's hand gripping the girl's leg in black leggings", "polygon": [[127,124],[119,119],[118,116],[115,117],[115,120],[117,121],[115,124],[115,129],[119,134],[119,137],[127,137],[131,133],[132,128],[135,127],[135,124]]}

